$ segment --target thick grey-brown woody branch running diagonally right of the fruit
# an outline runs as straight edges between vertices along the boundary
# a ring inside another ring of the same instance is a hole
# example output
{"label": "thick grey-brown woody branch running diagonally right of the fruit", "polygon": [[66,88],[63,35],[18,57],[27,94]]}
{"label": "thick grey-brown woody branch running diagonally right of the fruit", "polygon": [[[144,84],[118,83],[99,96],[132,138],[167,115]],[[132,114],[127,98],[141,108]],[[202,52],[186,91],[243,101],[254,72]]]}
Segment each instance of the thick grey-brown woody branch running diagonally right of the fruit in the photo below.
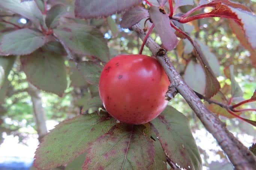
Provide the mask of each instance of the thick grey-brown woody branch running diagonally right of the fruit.
{"label": "thick grey-brown woody branch running diagonally right of the fruit", "polygon": [[[138,24],[134,25],[132,29],[137,32],[142,40],[145,38],[146,33]],[[146,41],[146,46],[148,46],[153,55],[156,56],[157,60],[163,66],[170,82],[175,85],[178,92],[194,110],[205,128],[212,134],[212,136],[215,137],[218,144],[229,157],[229,160],[232,162],[235,169],[254,170],[256,167],[256,157],[227,130],[225,123],[221,122],[214,113],[210,112],[205,107],[200,98],[184,82],[181,75],[177,72],[167,57],[166,51],[150,37]]]}

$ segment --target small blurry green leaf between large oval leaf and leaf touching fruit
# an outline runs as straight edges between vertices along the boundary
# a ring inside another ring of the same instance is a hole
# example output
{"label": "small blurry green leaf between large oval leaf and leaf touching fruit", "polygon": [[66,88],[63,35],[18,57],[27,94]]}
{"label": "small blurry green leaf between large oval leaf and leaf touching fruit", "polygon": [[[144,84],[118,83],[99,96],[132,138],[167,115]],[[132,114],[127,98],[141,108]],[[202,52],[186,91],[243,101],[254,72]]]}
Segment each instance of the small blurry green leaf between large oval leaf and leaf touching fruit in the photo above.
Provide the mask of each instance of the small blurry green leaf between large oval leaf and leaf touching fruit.
{"label": "small blurry green leaf between large oval leaf and leaf touching fruit", "polygon": [[77,66],[72,61],[69,61],[69,78],[71,80],[71,86],[83,87],[88,85],[83,75],[78,71]]}

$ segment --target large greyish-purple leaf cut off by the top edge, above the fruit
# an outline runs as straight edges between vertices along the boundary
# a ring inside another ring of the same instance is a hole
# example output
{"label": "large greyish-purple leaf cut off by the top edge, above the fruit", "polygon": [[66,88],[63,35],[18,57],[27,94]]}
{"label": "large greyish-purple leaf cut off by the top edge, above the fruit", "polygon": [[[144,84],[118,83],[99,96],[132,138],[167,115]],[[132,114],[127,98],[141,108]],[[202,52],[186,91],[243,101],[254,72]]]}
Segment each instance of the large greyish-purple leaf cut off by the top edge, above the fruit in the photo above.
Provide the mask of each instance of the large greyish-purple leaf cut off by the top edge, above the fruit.
{"label": "large greyish-purple leaf cut off by the top edge, above the fruit", "polygon": [[86,19],[106,17],[141,2],[142,0],[75,0],[75,16]]}

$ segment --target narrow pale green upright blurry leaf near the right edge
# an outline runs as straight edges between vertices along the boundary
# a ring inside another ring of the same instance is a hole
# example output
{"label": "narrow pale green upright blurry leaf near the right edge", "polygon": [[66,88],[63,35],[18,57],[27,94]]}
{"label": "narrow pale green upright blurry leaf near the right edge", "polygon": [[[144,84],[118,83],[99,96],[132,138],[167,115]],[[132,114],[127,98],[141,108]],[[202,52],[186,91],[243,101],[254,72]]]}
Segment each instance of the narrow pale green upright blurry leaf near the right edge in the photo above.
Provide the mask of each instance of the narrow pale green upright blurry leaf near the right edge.
{"label": "narrow pale green upright blurry leaf near the right edge", "polygon": [[234,66],[231,65],[228,67],[229,70],[227,70],[226,68],[224,69],[225,71],[225,75],[227,76],[227,78],[230,79],[231,81],[231,95],[232,97],[241,97],[244,95],[244,93],[242,92],[241,87],[239,86],[239,84],[236,82],[235,80],[235,76],[234,76]]}

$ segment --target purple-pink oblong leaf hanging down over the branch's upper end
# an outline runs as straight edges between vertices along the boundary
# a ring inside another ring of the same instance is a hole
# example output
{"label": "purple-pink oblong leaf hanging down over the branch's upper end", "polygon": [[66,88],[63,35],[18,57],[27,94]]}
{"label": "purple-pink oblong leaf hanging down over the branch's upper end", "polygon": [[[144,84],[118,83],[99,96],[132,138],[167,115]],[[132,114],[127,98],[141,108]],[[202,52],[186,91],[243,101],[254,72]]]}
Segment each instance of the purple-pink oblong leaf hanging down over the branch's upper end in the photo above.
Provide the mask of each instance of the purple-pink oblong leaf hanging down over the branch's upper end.
{"label": "purple-pink oblong leaf hanging down over the branch's upper end", "polygon": [[157,33],[161,37],[164,48],[168,51],[173,50],[178,44],[178,39],[170,25],[169,16],[161,13],[157,6],[150,7],[149,15],[152,22],[155,24]]}

